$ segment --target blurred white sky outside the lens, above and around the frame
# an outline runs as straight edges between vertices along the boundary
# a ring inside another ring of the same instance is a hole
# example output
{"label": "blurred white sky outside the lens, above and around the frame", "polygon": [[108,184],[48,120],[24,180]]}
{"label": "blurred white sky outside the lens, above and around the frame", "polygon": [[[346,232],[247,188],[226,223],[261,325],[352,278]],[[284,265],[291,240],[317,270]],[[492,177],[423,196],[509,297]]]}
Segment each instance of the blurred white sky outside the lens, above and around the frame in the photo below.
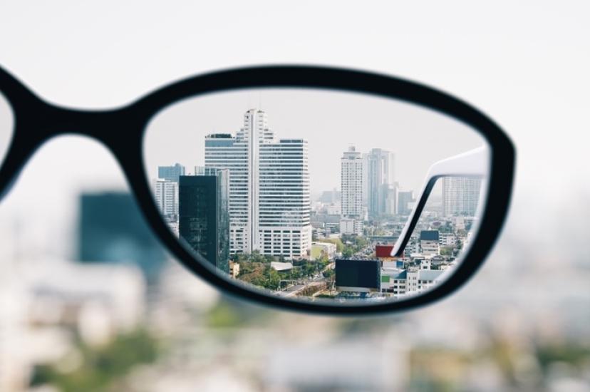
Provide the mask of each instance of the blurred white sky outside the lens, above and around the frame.
{"label": "blurred white sky outside the lens, above and around the frame", "polygon": [[[581,219],[571,197],[590,195],[589,13],[588,1],[2,1],[0,64],[48,100],[80,108],[261,63],[361,68],[441,88],[514,140],[508,226],[547,251],[564,232],[559,219],[569,228]],[[54,140],[1,202],[0,222],[21,217],[31,238],[63,243],[78,190],[104,185],[125,182],[102,146]]]}

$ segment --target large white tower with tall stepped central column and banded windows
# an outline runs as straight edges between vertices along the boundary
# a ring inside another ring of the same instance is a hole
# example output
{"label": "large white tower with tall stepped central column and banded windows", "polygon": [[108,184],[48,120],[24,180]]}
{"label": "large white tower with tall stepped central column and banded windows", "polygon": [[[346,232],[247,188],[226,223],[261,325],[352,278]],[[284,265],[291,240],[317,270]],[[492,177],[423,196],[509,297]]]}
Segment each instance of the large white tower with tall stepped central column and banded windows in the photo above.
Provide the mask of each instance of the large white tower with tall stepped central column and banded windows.
{"label": "large white tower with tall stepped central column and banded windows", "polygon": [[251,109],[234,136],[208,135],[205,166],[229,170],[230,252],[298,258],[311,247],[307,142],[276,140]]}

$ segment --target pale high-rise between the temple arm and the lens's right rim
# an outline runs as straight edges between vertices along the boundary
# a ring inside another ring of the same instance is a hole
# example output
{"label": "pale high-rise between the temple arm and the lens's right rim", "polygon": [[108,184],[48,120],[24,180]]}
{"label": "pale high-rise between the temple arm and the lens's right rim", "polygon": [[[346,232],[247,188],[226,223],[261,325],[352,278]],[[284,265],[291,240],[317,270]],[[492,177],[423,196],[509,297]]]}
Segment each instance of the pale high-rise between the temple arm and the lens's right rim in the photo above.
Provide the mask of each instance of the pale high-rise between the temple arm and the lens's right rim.
{"label": "pale high-rise between the temple arm and the lens's right rim", "polygon": [[442,215],[475,216],[481,185],[477,177],[442,177]]}

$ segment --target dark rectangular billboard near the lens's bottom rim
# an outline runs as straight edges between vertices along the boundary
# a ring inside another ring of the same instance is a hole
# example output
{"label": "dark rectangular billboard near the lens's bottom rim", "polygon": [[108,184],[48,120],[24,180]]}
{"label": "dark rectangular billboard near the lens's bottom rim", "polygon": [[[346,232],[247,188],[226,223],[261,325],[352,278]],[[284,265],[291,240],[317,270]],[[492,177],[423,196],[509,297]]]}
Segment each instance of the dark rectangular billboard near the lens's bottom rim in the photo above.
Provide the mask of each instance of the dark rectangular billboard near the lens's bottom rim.
{"label": "dark rectangular billboard near the lens's bottom rim", "polygon": [[336,287],[368,292],[381,289],[379,260],[336,259]]}

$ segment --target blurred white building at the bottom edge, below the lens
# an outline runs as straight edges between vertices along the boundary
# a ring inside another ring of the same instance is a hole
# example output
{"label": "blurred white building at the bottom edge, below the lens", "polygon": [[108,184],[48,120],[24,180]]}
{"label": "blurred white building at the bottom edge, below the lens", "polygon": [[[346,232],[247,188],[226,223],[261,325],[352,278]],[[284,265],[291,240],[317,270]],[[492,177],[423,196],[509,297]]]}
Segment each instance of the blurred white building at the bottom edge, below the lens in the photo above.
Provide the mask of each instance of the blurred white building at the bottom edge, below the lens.
{"label": "blurred white building at the bottom edge, below the lens", "polygon": [[391,333],[280,344],[264,366],[264,381],[269,391],[403,391],[410,379],[409,351]]}

